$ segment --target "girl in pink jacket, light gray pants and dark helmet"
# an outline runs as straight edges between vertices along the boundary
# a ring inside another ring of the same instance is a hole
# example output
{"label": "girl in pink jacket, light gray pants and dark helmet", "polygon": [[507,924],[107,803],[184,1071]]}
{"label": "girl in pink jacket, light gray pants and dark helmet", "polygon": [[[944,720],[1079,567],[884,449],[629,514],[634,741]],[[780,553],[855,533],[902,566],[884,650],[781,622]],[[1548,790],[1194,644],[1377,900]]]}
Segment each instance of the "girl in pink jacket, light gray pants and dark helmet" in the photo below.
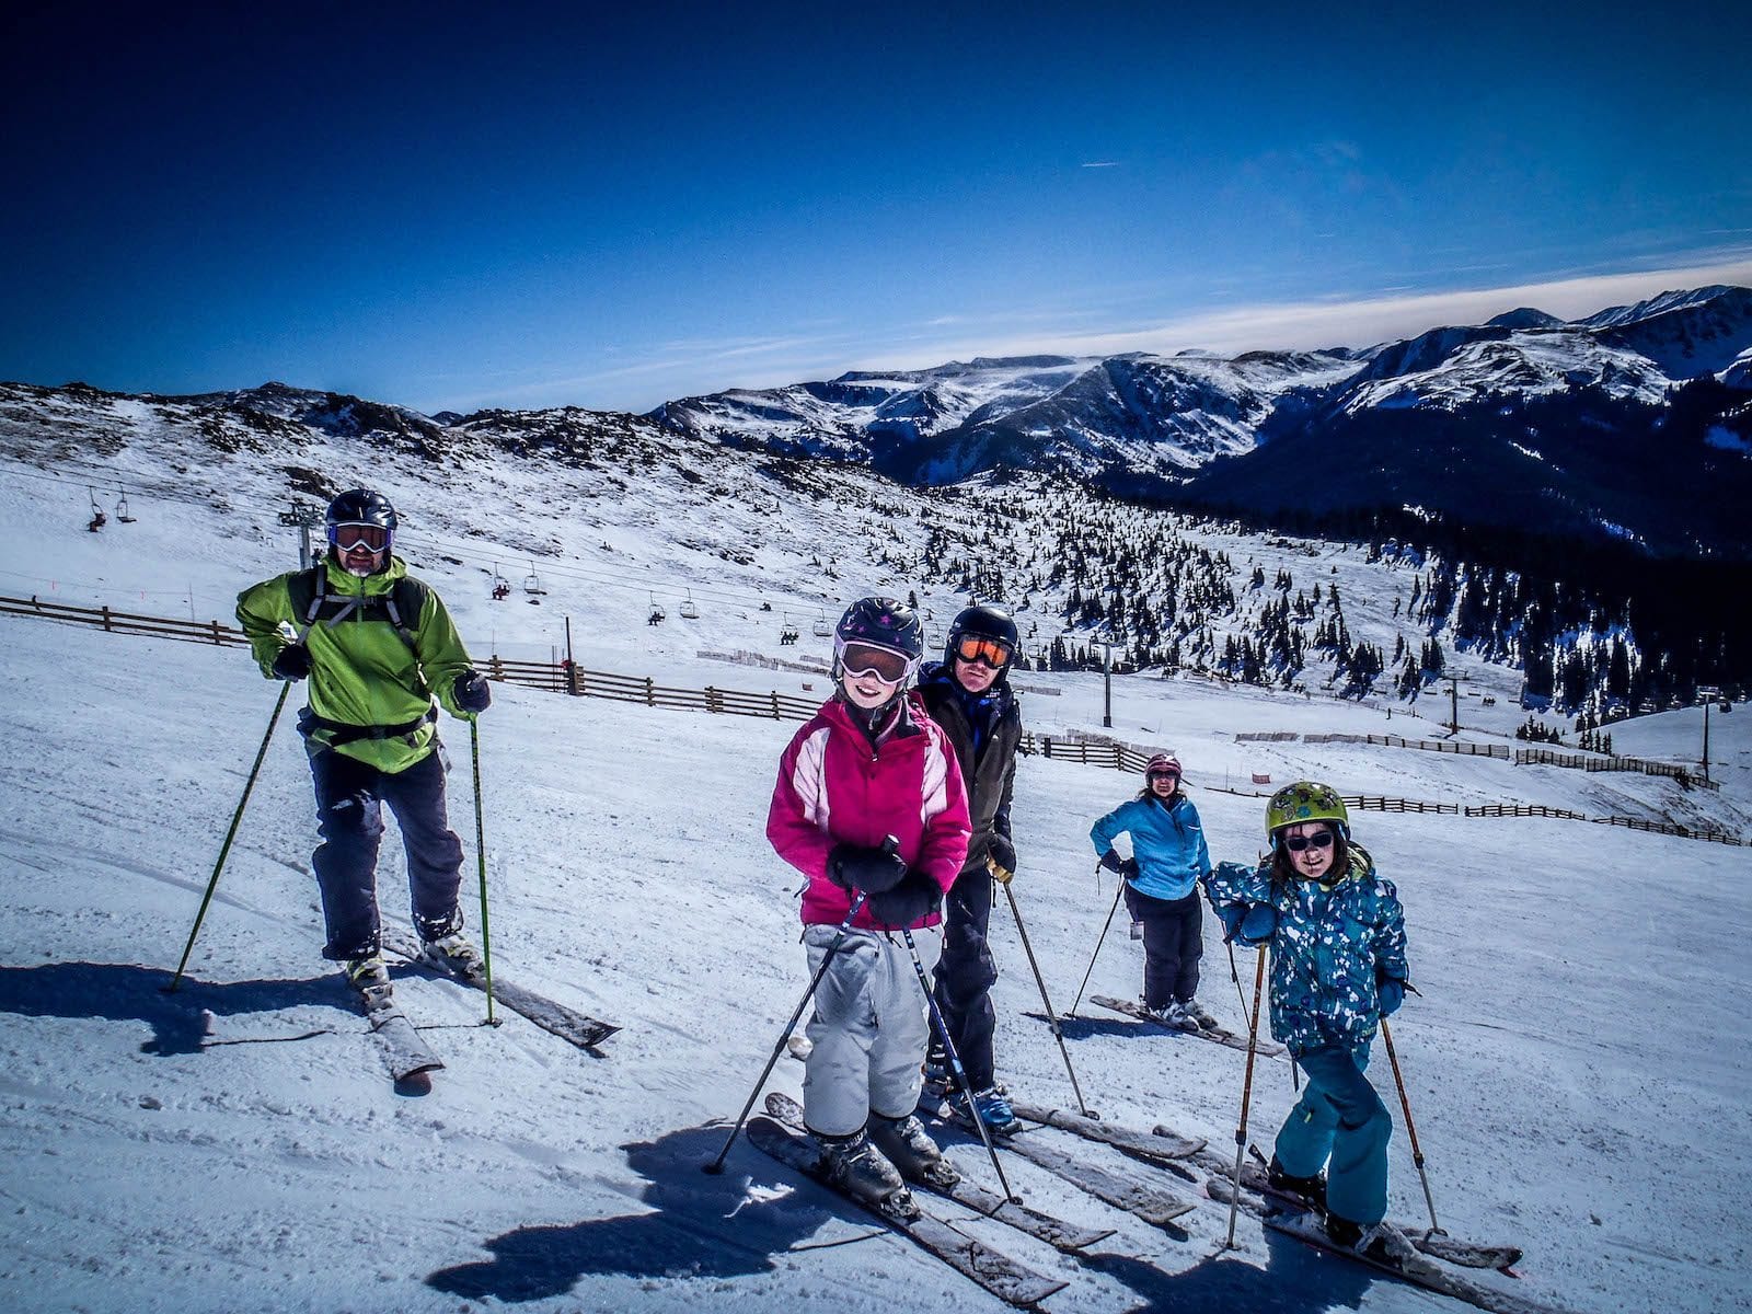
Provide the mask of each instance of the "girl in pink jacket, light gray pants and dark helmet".
{"label": "girl in pink jacket, light gray pants and dark helmet", "polygon": [[[836,1183],[901,1216],[916,1214],[902,1172],[941,1181],[955,1169],[913,1116],[930,1030],[913,955],[890,932],[937,925],[969,839],[955,750],[906,694],[922,652],[909,606],[846,608],[837,687],[785,748],[767,811],[773,848],[809,878],[811,976],[832,955],[806,1032],[804,1121]],[[841,936],[857,894],[865,902]]]}

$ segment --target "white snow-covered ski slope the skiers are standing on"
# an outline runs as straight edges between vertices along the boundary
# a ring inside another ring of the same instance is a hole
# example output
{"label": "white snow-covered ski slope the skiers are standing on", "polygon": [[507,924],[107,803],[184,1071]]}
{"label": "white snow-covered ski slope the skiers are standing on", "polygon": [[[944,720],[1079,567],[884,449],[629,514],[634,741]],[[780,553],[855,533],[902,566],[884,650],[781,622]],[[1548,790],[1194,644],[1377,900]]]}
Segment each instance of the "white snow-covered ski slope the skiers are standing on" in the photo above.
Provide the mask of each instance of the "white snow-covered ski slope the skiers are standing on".
{"label": "white snow-covered ski slope the skiers are standing on", "polygon": [[[941,638],[958,596],[941,580],[925,587],[920,554],[953,529],[967,533],[955,550],[976,561],[988,526],[967,498],[902,498],[869,475],[764,452],[711,445],[703,456],[625,417],[543,413],[442,424],[442,434],[408,419],[368,442],[343,431],[357,410],[315,396],[252,399],[259,422],[196,399],[33,399],[30,413],[51,422],[14,412],[0,433],[11,456],[0,480],[4,592],[228,618],[240,587],[296,562],[298,531],[277,519],[293,489],[371,482],[403,506],[406,552],[480,655],[547,661],[569,643],[592,669],[822,696],[822,676],[808,669],[825,655],[815,622],[867,590],[904,594],[911,580]],[[338,431],[275,427],[312,406]],[[510,456],[515,445],[527,452]],[[604,459],[561,459],[580,445]],[[26,449],[37,464],[18,463]],[[1028,569],[1018,545],[1074,520],[1065,496],[1027,491],[1021,538],[999,554],[1006,566]],[[98,533],[84,527],[89,498],[109,513]],[[1123,515],[1144,533],[1162,513]],[[1353,629],[1391,645],[1409,564],[1209,534],[1209,547],[1233,555],[1239,580],[1253,557],[1267,571],[1340,583]],[[513,589],[503,603],[491,599],[496,569]],[[1058,589],[1042,587],[1021,613],[1025,632],[1044,627],[1030,641],[1056,632]],[[1242,594],[1242,610],[1260,604]],[[697,617],[682,613],[683,599]],[[655,625],[653,601],[668,610]],[[785,625],[801,631],[797,645],[780,643]],[[12,801],[0,823],[0,1307],[995,1309],[746,1144],[724,1177],[699,1172],[806,979],[797,880],[762,834],[771,771],[794,725],[496,687],[480,725],[496,971],[625,1030],[590,1058],[515,1016],[480,1027],[478,993],[405,976],[398,995],[447,1063],[417,1097],[391,1088],[317,957],[308,771],[284,722],[191,979],[177,995],[159,990],[275,685],[238,650],[14,617],[0,617],[0,673],[12,743],[0,757]],[[1473,668],[1461,739],[1501,743],[1519,718],[1517,678]],[[1099,675],[1027,671],[1016,682],[1032,729],[1100,727]],[[1486,706],[1493,692],[1498,704]],[[1111,734],[1181,755],[1218,858],[1258,851],[1256,790],[1267,787],[1256,776],[1752,832],[1743,706],[1710,724],[1719,794],[1307,739],[1426,738],[1447,704],[1423,699],[1423,717],[1409,711],[1337,703],[1318,687],[1303,696],[1116,676]],[[1696,760],[1698,710],[1614,729],[1621,752]],[[443,732],[463,767],[452,774],[452,822],[478,925],[468,734],[456,722]],[[1014,892],[1058,1007],[1114,894],[1093,876],[1088,825],[1135,785],[1039,757],[1020,766]],[[1752,1237],[1740,1202],[1752,1155],[1747,850],[1537,818],[1368,811],[1356,832],[1407,906],[1423,997],[1395,1034],[1442,1223],[1524,1244],[1517,1289],[1533,1298],[1579,1310],[1736,1309]],[[380,890],[385,913],[405,918],[394,844]],[[1002,909],[993,925],[999,1070],[1042,1104],[1067,1104],[1058,1049],[1027,1016],[1039,995],[1014,927]],[[1116,930],[1090,990],[1130,995],[1139,974],[1137,946]],[[1240,1021],[1209,922],[1200,993],[1225,1021]],[[1072,1023],[1069,1044],[1084,1093],[1111,1118],[1228,1144],[1240,1055],[1097,1018]],[[1391,1104],[1384,1063],[1375,1079]],[[781,1063],[774,1084],[799,1083],[797,1065]],[[1267,1142],[1293,1100],[1288,1069],[1267,1065],[1253,1139]],[[978,1155],[955,1153],[988,1181]],[[1247,1219],[1242,1249],[1212,1258],[1226,1228],[1212,1204],[1181,1219],[1179,1239],[1027,1165],[1011,1172],[1037,1207],[1116,1230],[1104,1258],[1079,1265],[969,1219],[1069,1282],[1048,1302],[1060,1314],[1211,1302],[1298,1314],[1433,1309],[1421,1293],[1267,1239]],[[1181,1186],[1167,1176],[1158,1184]],[[1423,1195],[1403,1139],[1391,1190],[1393,1212],[1417,1219]]]}

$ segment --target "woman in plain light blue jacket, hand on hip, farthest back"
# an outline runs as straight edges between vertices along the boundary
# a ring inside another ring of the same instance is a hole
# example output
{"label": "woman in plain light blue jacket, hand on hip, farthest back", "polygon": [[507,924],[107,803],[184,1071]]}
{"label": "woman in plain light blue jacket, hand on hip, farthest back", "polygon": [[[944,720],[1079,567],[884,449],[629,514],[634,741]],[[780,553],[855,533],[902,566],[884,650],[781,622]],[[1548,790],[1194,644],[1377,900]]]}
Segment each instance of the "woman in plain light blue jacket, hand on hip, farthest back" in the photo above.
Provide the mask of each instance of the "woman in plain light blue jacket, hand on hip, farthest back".
{"label": "woman in plain light blue jacket, hand on hip, farthest back", "polygon": [[[1113,841],[1132,836],[1120,860]],[[1193,999],[1204,955],[1198,878],[1211,872],[1198,809],[1181,790],[1181,764],[1156,753],[1144,767],[1144,790],[1090,829],[1100,865],[1125,878],[1125,906],[1144,937],[1144,1007],[1170,1027],[1214,1028],[1216,1018]]]}

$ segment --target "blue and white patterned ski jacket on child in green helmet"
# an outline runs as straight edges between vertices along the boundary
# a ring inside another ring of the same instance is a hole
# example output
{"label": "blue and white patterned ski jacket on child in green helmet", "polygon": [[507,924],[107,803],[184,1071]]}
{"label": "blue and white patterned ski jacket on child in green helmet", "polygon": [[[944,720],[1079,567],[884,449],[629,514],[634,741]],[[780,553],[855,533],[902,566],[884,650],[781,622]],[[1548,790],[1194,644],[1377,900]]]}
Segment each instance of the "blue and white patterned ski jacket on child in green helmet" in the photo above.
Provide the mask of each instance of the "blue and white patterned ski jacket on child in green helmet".
{"label": "blue and white patterned ski jacket on child in green helmet", "polygon": [[1253,904],[1270,904],[1277,913],[1268,941],[1272,1035],[1291,1055],[1323,1046],[1367,1053],[1381,1025],[1377,983],[1409,979],[1398,892],[1375,874],[1367,850],[1349,848],[1351,865],[1330,887],[1289,881],[1274,888],[1270,858],[1256,869],[1223,862],[1204,878],[1218,915]]}

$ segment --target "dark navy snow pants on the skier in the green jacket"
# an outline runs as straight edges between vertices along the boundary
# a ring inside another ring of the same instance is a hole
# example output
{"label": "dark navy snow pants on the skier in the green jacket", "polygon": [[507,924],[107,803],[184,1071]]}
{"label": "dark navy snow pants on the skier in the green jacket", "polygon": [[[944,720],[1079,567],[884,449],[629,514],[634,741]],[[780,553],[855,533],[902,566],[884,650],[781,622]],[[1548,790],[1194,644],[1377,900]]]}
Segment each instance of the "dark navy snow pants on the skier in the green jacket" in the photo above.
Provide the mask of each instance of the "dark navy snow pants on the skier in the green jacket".
{"label": "dark navy snow pants on the skier in the green jacket", "polygon": [[405,771],[387,773],[328,748],[310,759],[317,788],[317,834],[310,857],[322,890],[328,923],[324,958],[345,962],[375,953],[377,850],[384,839],[384,808],[396,815],[408,855],[413,927],[438,939],[463,927],[457,888],[463,883],[463,841],[445,816],[443,755],[438,748]]}

